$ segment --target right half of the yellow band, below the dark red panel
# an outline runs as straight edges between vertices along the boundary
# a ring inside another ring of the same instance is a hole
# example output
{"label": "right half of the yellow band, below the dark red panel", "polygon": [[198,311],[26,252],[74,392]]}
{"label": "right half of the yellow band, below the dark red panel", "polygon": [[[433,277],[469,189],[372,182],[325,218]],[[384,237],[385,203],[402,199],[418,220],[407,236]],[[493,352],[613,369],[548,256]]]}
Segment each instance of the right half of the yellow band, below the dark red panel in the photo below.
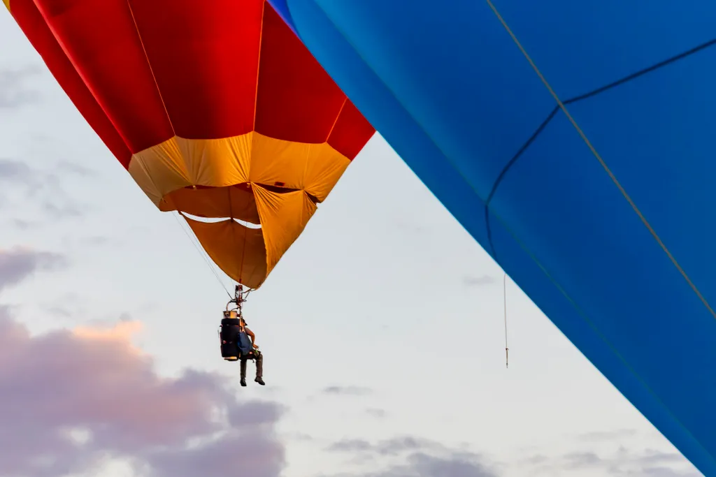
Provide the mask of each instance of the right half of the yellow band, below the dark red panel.
{"label": "right half of the yellow band, below the dark red panel", "polygon": [[283,182],[323,202],[350,161],[326,142],[283,141],[254,133],[249,180],[263,185]]}

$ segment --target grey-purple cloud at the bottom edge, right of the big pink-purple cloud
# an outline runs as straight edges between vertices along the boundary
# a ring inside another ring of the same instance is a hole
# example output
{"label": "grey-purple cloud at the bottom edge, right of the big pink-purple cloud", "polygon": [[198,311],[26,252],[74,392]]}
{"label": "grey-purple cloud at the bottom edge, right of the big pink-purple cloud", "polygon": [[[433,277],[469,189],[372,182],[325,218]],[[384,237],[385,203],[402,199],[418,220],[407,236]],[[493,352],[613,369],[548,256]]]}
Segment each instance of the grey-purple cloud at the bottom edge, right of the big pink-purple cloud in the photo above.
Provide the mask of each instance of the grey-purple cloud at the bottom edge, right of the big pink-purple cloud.
{"label": "grey-purple cloud at the bottom edge, right of the big pink-purple cloud", "polygon": [[[348,453],[353,464],[373,463],[367,471],[340,477],[497,477],[485,458],[476,453],[450,449],[422,438],[403,436],[370,443],[347,439],[334,443],[329,451]],[[339,476],[333,476],[339,477]]]}

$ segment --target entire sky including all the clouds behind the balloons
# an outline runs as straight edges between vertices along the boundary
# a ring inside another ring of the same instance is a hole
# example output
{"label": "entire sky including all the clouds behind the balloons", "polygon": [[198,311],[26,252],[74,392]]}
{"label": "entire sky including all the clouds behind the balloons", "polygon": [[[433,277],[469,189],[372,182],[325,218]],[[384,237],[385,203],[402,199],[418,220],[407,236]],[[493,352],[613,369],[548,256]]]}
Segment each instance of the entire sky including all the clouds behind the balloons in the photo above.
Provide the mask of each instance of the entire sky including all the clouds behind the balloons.
{"label": "entire sky including all the clouds behind the balloons", "polygon": [[[0,477],[692,477],[376,135],[246,304],[0,11]],[[248,365],[253,377],[253,363]]]}

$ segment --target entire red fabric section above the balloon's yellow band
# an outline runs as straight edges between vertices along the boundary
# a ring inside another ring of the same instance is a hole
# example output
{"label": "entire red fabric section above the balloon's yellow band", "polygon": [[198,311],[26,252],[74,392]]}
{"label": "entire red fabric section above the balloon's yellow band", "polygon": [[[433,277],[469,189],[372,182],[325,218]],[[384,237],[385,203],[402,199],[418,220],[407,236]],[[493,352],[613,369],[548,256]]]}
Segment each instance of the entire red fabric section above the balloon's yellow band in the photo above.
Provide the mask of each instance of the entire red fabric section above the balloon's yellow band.
{"label": "entire red fabric section above the balloon's yellow band", "polygon": [[127,149],[174,134],[211,139],[253,128],[289,141],[329,139],[351,159],[372,135],[265,0],[128,1],[34,0],[66,55],[32,1],[13,3],[16,17],[32,23],[26,34],[40,54],[57,63],[48,63],[53,74],[125,167]]}

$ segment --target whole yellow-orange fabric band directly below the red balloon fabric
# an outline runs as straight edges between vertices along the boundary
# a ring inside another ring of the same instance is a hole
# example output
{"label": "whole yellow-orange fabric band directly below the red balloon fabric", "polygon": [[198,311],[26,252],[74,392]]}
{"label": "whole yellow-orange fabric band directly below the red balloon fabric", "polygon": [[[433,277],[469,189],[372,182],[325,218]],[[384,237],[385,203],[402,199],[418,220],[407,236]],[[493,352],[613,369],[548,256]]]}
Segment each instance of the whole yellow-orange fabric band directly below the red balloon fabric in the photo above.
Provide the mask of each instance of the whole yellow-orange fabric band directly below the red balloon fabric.
{"label": "whole yellow-orange fabric band directly below the red balloon fabric", "polygon": [[134,154],[129,172],[160,210],[173,210],[162,200],[183,187],[243,182],[305,190],[322,202],[349,164],[327,143],[291,142],[249,132],[224,139],[173,137]]}

